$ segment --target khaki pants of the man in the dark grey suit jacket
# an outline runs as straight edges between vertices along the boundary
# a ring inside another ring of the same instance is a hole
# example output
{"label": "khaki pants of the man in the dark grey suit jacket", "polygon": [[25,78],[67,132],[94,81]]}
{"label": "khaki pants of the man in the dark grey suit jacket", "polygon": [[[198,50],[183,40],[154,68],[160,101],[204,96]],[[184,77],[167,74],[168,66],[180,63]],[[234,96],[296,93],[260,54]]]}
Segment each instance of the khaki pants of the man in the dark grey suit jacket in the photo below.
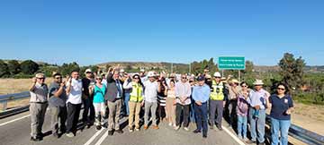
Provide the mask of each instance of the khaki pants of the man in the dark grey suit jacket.
{"label": "khaki pants of the man in the dark grey suit jacket", "polygon": [[108,101],[109,118],[108,118],[108,131],[120,130],[120,115],[121,115],[121,99],[114,102]]}

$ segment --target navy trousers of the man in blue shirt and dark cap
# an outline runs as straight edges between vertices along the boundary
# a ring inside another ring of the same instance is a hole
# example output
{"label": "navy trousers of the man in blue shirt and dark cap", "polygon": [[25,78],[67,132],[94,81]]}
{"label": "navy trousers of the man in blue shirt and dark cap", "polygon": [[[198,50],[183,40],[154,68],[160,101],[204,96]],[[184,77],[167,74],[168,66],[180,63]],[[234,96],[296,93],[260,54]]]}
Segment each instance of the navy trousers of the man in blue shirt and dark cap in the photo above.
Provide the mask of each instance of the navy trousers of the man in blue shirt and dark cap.
{"label": "navy trousers of the man in blue shirt and dark cap", "polygon": [[196,124],[197,130],[202,131],[203,135],[207,135],[207,103],[202,103],[202,106],[198,106],[194,103],[194,112],[197,116]]}

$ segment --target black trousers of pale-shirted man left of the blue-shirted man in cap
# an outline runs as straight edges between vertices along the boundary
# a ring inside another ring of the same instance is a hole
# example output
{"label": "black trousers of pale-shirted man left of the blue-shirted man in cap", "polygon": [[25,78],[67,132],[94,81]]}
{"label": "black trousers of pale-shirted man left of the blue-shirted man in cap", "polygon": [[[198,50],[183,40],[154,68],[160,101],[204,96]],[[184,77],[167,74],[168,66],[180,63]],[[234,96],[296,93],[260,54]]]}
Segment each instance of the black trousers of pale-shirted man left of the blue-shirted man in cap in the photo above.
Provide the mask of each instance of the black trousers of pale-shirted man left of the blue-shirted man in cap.
{"label": "black trousers of pale-shirted man left of the blue-shirted man in cap", "polygon": [[189,126],[189,111],[190,105],[181,105],[179,103],[176,104],[175,107],[175,124],[179,126],[181,124],[181,113],[184,111],[184,127]]}

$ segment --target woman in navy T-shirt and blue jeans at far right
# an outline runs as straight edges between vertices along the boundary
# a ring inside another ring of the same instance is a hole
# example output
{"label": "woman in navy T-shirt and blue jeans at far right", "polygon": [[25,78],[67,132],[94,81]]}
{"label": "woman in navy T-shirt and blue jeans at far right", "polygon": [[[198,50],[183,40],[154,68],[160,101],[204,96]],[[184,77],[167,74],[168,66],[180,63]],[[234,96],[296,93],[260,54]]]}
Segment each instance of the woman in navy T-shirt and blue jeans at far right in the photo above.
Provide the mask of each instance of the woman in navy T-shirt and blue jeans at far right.
{"label": "woman in navy T-shirt and blue jeans at far right", "polygon": [[269,107],[271,108],[271,144],[277,145],[280,142],[281,145],[287,145],[291,114],[293,112],[293,99],[284,83],[277,85],[276,93],[269,98]]}

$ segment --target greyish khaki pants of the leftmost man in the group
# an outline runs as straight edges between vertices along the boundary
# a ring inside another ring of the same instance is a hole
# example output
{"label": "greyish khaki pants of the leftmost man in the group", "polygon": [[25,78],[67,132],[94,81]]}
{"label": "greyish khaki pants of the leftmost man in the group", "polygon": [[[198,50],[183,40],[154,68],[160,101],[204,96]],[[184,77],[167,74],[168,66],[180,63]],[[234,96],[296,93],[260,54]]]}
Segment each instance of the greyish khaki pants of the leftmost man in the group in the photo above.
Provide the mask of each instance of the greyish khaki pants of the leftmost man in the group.
{"label": "greyish khaki pants of the leftmost man in the group", "polygon": [[36,138],[37,136],[40,136],[47,107],[47,103],[30,103],[31,137]]}

